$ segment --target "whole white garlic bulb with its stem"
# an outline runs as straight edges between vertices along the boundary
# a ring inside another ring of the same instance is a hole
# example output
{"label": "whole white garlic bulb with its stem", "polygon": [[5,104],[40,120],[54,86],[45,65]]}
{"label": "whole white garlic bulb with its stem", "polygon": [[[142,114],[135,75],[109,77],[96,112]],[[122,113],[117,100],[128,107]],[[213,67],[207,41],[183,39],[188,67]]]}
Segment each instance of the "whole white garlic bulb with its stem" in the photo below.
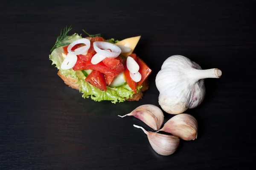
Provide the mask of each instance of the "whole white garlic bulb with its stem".
{"label": "whole white garlic bulb with its stem", "polygon": [[221,74],[219,69],[202,70],[182,55],[167,58],[155,80],[160,106],[170,114],[197,107],[205,96],[204,78],[220,78]]}

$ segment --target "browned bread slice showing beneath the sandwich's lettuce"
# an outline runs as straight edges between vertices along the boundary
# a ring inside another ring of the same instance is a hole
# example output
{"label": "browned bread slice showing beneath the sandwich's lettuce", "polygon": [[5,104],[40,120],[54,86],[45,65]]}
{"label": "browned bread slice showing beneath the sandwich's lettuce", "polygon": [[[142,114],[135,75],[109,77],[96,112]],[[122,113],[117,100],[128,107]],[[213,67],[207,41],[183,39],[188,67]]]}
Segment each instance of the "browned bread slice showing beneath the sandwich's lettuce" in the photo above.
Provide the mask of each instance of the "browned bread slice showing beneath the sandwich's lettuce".
{"label": "browned bread slice showing beneath the sandwich's lettuce", "polygon": [[[79,90],[79,85],[76,84],[77,80],[75,78],[71,78],[70,76],[66,77],[58,71],[58,76],[64,81],[65,84],[70,86],[73,89]],[[143,92],[145,92],[148,89],[148,79],[146,79],[143,84],[142,88],[140,89],[139,92],[135,93],[132,98],[126,99],[126,101],[139,101],[141,98],[143,98]]]}

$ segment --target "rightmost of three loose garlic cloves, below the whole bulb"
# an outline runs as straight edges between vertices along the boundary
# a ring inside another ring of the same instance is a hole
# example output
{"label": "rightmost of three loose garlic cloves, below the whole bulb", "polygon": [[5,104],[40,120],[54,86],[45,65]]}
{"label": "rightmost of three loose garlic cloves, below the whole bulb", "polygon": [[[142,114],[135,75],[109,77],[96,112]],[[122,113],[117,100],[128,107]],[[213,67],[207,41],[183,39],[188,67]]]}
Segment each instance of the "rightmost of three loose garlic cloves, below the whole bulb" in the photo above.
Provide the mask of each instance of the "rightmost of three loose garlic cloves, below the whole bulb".
{"label": "rightmost of three loose garlic cloves, below the whole bulb", "polygon": [[167,121],[159,131],[171,133],[183,140],[190,141],[197,138],[198,122],[194,116],[181,113]]}

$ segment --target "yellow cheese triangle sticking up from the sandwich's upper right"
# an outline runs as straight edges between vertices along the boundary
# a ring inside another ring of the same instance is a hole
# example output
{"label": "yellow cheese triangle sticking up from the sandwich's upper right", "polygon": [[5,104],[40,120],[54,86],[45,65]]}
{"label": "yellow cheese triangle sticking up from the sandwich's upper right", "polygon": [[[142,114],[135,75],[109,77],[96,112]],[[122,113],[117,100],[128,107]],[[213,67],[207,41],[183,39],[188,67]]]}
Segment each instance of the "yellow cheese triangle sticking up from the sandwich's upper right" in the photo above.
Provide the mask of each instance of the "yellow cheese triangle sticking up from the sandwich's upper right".
{"label": "yellow cheese triangle sticking up from the sandwich's upper right", "polygon": [[115,45],[129,47],[131,49],[130,52],[122,53],[122,55],[124,55],[125,57],[128,57],[131,53],[133,53],[137,43],[140,40],[140,37],[141,36],[126,38],[124,40],[121,40],[121,41],[115,43]]}

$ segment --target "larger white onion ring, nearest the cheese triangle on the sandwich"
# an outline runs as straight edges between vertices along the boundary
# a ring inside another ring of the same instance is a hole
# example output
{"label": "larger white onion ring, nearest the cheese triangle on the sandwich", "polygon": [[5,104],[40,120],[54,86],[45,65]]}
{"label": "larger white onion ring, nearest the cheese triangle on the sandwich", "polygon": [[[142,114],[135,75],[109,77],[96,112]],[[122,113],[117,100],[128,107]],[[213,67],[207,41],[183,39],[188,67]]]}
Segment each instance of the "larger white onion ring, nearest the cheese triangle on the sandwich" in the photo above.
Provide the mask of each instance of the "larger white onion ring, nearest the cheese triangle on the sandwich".
{"label": "larger white onion ring, nearest the cheese triangle on the sandwich", "polygon": [[[121,49],[118,46],[108,42],[96,41],[93,43],[93,48],[100,55],[109,58],[116,58],[121,53]],[[104,49],[111,49],[112,52],[105,51]]]}

